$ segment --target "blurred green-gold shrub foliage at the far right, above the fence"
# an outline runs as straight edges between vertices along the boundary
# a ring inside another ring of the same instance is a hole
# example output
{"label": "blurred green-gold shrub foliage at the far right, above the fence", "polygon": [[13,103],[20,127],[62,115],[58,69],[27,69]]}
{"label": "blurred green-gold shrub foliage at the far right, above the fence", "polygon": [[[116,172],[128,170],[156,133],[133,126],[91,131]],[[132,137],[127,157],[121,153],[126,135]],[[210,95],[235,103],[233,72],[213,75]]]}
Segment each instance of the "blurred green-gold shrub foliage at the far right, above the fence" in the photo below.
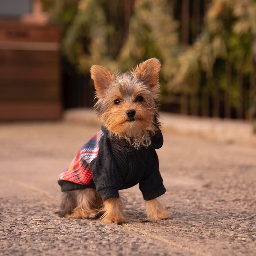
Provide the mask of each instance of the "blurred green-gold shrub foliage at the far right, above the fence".
{"label": "blurred green-gold shrub foliage at the far right, above the fence", "polygon": [[236,70],[242,66],[243,73],[250,73],[255,34],[255,0],[213,0],[199,39],[178,58],[175,81],[193,89],[191,78],[205,72],[211,79],[217,59],[229,60]]}

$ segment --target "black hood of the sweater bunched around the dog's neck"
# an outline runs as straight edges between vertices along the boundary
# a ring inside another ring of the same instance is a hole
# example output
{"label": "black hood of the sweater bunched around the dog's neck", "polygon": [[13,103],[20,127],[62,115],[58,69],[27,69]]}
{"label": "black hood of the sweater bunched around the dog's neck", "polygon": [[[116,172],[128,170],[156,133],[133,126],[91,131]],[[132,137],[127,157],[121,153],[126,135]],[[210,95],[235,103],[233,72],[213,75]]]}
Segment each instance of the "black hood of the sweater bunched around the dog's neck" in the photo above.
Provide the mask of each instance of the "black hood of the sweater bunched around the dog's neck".
{"label": "black hood of the sweater bunched around the dog's neck", "polygon": [[[127,141],[125,140],[119,140],[115,138],[115,136],[111,136],[109,130],[102,125],[101,126],[102,132],[111,140],[111,142],[114,142],[118,144],[121,148],[128,150],[128,151],[133,151],[137,150],[135,147],[131,146]],[[148,149],[148,148],[154,148],[154,149],[159,149],[163,146],[164,139],[162,132],[160,130],[157,130],[155,135],[151,138],[151,144],[148,147],[141,147],[140,149]]]}

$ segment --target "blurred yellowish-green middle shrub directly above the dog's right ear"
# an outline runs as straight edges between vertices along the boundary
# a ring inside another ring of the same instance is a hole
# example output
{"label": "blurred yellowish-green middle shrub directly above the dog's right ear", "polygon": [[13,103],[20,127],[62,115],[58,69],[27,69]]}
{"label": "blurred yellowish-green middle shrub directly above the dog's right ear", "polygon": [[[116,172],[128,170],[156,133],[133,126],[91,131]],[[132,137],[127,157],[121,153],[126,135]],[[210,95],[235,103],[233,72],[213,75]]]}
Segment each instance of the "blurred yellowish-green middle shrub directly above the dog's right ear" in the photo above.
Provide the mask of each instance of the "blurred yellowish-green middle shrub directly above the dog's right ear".
{"label": "blurred yellowish-green middle shrub directly above the dog's right ear", "polygon": [[168,84],[178,68],[178,27],[179,23],[173,20],[170,13],[168,1],[137,1],[119,62],[129,68],[139,61],[158,57],[162,62],[162,79]]}

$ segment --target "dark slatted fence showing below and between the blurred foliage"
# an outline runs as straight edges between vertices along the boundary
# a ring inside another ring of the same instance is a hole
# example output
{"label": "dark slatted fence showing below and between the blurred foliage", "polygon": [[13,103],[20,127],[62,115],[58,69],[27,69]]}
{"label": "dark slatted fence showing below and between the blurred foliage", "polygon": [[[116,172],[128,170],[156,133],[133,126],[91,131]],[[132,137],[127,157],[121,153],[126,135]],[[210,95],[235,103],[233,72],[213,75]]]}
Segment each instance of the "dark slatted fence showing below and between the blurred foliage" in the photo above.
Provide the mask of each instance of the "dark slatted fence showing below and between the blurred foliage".
{"label": "dark slatted fence showing below and between the blurred foliage", "polygon": [[[180,21],[181,44],[191,45],[195,42],[203,28],[204,17],[210,4],[211,0],[172,1],[173,17]],[[211,82],[202,74],[199,81],[201,86],[198,86],[197,91],[171,93],[168,101],[162,102],[162,110],[195,116],[250,119],[250,106],[256,92],[255,63],[249,75],[243,72],[242,66],[237,70],[234,68],[234,63],[229,61],[226,61],[223,69],[225,69],[225,86],[220,86],[222,74],[214,69]],[[91,107],[94,89],[89,82],[89,76],[81,78],[75,73],[72,75],[70,71],[64,75],[66,75],[65,107]],[[232,91],[234,84],[237,91],[235,97]]]}

